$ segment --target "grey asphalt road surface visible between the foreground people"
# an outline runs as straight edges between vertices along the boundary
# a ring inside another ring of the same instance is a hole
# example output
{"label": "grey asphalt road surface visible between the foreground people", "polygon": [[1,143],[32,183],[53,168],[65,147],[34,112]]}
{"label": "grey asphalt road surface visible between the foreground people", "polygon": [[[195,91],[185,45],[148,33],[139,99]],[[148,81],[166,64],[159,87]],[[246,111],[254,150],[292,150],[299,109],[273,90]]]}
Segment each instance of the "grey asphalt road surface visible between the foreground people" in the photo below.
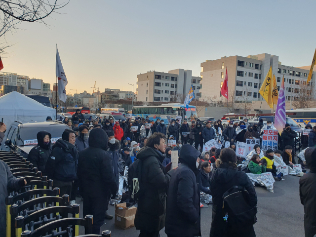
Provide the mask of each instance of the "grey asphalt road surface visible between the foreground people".
{"label": "grey asphalt road surface visible between the foreground people", "polygon": [[[258,222],[254,228],[257,237],[304,237],[304,210],[299,197],[299,177],[287,175],[283,179],[274,183],[274,193],[260,186],[255,187],[258,196]],[[82,206],[79,198],[77,200]],[[82,215],[82,211],[80,212]],[[109,206],[109,213],[114,215],[114,206]],[[209,236],[211,220],[212,205],[201,208],[202,237]],[[114,220],[106,220],[101,230],[110,230],[112,237],[139,235],[135,227],[122,230],[114,225]],[[79,234],[83,235],[83,230]],[[160,231],[160,236],[166,237],[164,229]]]}

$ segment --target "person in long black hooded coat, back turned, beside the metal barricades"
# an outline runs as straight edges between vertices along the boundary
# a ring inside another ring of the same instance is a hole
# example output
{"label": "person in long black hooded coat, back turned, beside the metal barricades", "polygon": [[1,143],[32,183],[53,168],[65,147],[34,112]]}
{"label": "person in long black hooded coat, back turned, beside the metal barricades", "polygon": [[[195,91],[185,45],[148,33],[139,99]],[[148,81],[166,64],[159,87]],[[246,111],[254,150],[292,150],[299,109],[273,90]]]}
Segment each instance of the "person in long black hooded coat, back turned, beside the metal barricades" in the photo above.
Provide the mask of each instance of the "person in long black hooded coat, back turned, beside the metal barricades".
{"label": "person in long black hooded coat, back turned, beside the metal barricades", "polygon": [[[114,135],[113,135],[114,136]],[[105,221],[108,197],[116,196],[118,184],[112,160],[107,152],[108,135],[102,129],[92,129],[89,147],[79,153],[78,177],[83,197],[83,215],[93,215],[93,234],[100,234]]]}

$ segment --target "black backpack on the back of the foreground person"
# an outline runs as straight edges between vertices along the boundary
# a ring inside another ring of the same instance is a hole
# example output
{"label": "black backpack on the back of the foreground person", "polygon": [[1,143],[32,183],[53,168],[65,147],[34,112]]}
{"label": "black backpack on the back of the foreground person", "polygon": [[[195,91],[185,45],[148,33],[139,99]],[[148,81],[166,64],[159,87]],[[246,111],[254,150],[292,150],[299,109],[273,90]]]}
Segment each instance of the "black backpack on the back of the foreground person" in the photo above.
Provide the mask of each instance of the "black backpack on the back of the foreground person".
{"label": "black backpack on the back of the foreground person", "polygon": [[241,229],[257,222],[257,207],[249,205],[250,197],[244,187],[233,186],[223,195],[223,219],[229,228]]}

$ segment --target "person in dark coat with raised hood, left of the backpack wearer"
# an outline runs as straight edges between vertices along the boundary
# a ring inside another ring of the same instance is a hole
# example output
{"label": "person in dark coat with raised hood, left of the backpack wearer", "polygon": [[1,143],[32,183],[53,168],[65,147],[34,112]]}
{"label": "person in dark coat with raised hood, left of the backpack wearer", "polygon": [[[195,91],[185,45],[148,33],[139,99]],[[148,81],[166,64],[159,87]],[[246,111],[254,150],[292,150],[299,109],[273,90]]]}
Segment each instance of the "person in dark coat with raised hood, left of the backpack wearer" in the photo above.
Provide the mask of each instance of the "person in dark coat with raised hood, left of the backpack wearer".
{"label": "person in dark coat with raised hood, left of the backpack wearer", "polygon": [[201,236],[197,159],[201,155],[193,146],[184,144],[181,164],[171,176],[165,233],[172,237]]}

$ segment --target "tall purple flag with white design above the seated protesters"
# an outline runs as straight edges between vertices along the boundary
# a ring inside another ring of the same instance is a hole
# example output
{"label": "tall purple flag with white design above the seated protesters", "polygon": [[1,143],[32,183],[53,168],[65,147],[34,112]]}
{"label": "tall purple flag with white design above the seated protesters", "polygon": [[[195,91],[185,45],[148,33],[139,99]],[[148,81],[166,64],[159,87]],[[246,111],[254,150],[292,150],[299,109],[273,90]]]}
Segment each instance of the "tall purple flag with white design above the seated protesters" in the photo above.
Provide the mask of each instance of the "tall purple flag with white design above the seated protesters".
{"label": "tall purple flag with white design above the seated protesters", "polygon": [[277,105],[276,105],[276,118],[275,118],[275,127],[278,130],[278,133],[281,135],[283,128],[285,126],[285,93],[284,93],[284,75],[280,87],[280,92],[278,95]]}

